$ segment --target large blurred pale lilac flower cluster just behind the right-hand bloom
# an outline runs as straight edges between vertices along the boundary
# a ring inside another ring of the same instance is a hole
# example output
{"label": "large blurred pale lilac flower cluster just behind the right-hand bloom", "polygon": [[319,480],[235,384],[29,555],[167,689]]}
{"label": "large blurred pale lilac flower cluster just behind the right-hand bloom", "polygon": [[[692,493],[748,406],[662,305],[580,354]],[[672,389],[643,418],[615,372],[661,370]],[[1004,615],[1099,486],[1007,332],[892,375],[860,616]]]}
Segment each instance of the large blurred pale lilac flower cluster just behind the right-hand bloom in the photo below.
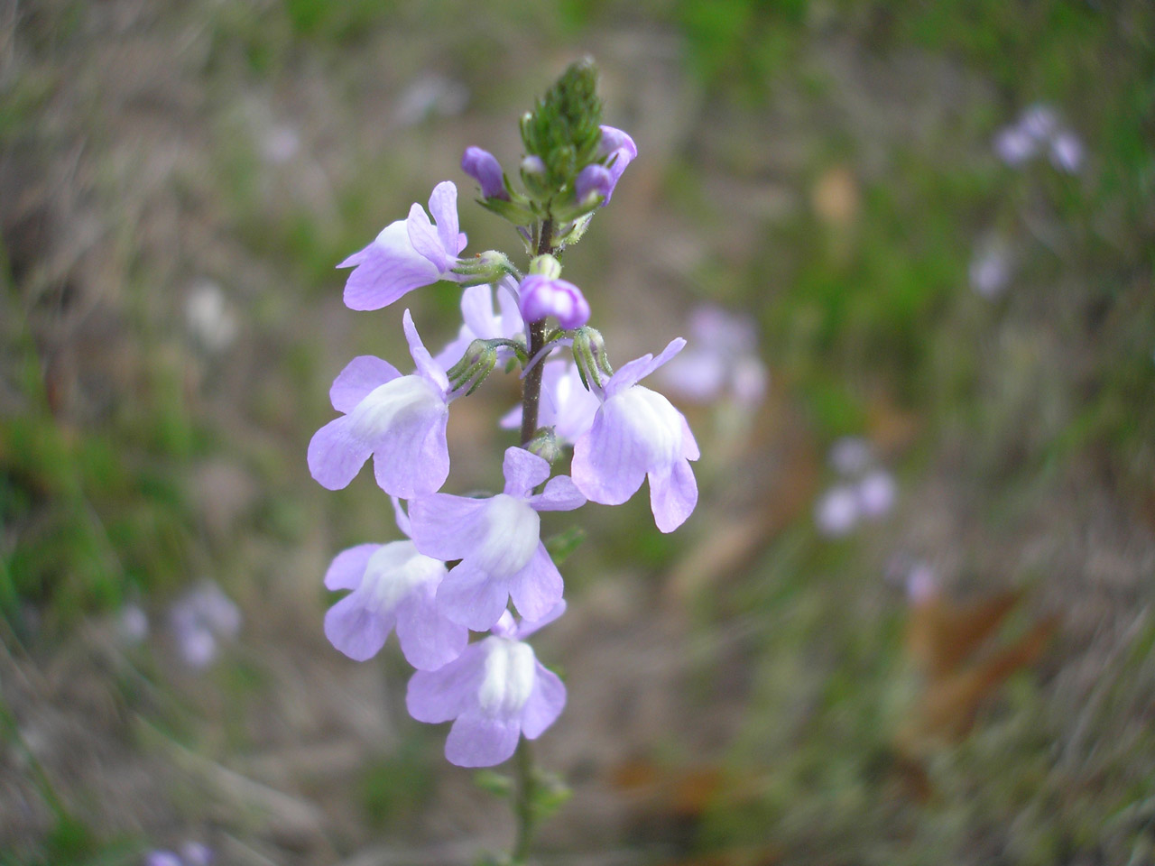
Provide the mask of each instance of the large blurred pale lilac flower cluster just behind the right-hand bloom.
{"label": "large blurred pale lilac flower cluster just behind the right-hand bloom", "polygon": [[743,405],[757,404],[767,375],[754,321],[707,305],[691,314],[690,331],[693,344],[663,367],[662,381],[696,402],[729,391]]}

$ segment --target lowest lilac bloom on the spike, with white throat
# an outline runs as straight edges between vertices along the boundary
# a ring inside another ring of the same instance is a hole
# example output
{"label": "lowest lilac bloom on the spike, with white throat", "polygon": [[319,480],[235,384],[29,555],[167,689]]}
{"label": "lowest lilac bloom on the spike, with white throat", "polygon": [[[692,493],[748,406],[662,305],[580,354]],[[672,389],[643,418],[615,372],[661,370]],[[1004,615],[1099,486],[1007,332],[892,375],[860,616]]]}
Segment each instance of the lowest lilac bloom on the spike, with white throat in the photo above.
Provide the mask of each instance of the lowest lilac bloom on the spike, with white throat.
{"label": "lowest lilac bloom on the spike, with white throat", "polygon": [[493,634],[456,660],[409,680],[405,706],[418,722],[453,722],[445,756],[459,767],[492,767],[513,755],[517,740],[536,740],[566,706],[566,687],[521,639],[557,619],[559,602],[537,621],[514,624],[508,611]]}

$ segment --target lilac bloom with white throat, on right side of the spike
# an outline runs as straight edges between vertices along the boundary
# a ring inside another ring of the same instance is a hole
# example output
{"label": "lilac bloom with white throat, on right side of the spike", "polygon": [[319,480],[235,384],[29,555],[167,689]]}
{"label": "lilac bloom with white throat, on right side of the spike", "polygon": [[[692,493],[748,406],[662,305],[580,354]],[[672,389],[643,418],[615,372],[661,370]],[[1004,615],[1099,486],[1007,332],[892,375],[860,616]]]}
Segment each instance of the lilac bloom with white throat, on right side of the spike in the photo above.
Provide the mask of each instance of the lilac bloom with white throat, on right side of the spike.
{"label": "lilac bloom with white throat, on right side of the spike", "polygon": [[690,461],[700,453],[681,412],[638,381],[685,344],[679,337],[657,358],[644,354],[610,376],[594,424],[574,443],[571,468],[578,490],[603,505],[621,505],[648,477],[650,508],[663,532],[680,527],[698,503]]}

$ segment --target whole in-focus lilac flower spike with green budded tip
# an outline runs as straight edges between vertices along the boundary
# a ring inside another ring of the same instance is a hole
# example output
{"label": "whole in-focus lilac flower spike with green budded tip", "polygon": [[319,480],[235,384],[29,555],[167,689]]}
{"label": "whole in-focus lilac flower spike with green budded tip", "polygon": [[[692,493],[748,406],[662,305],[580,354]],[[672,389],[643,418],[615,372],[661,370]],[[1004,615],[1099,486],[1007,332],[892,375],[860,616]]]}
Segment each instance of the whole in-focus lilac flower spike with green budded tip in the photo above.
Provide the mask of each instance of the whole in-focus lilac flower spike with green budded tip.
{"label": "whole in-focus lilac flower spike with green budded tip", "polygon": [[[329,490],[350,484],[372,457],[374,480],[405,536],[337,554],[325,585],[348,595],[326,615],[325,634],[366,660],[396,632],[416,669],[410,715],[452,721],[446,756],[462,767],[505,761],[566,702],[561,680],[526,641],[565,611],[541,514],[587,501],[619,505],[648,479],[655,523],[670,532],[698,501],[690,461],[699,451],[686,419],[640,385],[685,341],[613,372],[601,335],[587,324],[588,301],[561,278],[557,254],[580,239],[638,155],[629,135],[598,122],[593,81],[590,67],[571,67],[523,119],[524,192],[492,154],[470,147],[462,157],[479,203],[513,223],[524,242],[531,256],[524,274],[495,251],[459,257],[465,236],[452,181],[434,187],[429,212],[415,203],[340,266],[353,268],[344,291],[352,309],[378,309],[439,281],[463,286],[459,334],[437,354],[404,311],[411,373],[374,356],[345,366],[329,391],[338,416],[307,454],[313,478]],[[572,360],[549,357],[566,349]],[[487,497],[445,492],[449,408],[499,365],[520,365],[523,380],[521,406],[502,420],[522,432],[505,451],[504,486]],[[571,446],[569,473],[554,473]],[[470,641],[471,632],[480,636]]]}

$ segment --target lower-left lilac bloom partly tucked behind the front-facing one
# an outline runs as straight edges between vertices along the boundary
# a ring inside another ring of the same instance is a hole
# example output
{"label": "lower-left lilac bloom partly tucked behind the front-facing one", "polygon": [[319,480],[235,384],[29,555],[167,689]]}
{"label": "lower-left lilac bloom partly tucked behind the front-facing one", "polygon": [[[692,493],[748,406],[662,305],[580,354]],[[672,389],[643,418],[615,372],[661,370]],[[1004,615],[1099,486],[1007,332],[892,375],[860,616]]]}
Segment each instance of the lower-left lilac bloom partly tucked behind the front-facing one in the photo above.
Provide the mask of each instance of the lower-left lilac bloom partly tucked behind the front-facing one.
{"label": "lower-left lilac bloom partly tucked behind the front-facing one", "polygon": [[[394,499],[397,524],[409,521]],[[325,574],[325,588],[352,590],[325,615],[325,636],[356,662],[385,645],[396,627],[401,651],[418,670],[448,664],[465,648],[469,632],[437,606],[445,562],[417,552],[410,540],[359,544],[342,551]]]}

